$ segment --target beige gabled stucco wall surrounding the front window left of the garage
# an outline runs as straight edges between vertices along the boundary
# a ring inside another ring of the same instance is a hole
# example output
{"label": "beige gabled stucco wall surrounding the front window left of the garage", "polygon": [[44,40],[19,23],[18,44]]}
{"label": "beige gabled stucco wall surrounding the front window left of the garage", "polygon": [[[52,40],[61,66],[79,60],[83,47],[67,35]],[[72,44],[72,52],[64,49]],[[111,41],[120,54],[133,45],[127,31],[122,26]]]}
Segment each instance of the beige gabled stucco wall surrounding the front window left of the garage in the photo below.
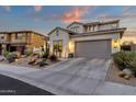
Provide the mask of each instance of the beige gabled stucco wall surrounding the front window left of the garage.
{"label": "beige gabled stucco wall surrounding the front window left of the garage", "polygon": [[[58,36],[56,34],[56,31],[58,30]],[[69,34],[67,32],[64,32],[59,29],[54,31],[52,34],[49,34],[49,53],[53,54],[53,42],[54,41],[63,41],[63,54],[61,57],[68,57],[68,44],[69,44]]]}

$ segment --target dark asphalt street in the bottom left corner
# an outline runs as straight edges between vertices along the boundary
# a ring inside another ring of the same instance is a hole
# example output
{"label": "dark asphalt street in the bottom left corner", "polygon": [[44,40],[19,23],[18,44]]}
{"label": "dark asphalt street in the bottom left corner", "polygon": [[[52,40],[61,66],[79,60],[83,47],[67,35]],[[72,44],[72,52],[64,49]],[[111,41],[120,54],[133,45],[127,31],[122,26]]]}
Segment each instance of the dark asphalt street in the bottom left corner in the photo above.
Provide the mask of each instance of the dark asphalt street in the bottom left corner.
{"label": "dark asphalt street in the bottom left corner", "polygon": [[0,75],[0,95],[53,95],[53,93]]}

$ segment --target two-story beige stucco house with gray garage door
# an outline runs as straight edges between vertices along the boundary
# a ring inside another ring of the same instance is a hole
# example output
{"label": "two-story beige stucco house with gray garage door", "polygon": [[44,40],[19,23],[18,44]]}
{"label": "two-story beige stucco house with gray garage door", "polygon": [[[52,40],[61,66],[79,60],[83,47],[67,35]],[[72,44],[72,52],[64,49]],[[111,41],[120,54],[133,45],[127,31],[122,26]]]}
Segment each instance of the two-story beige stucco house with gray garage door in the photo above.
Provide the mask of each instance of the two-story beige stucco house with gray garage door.
{"label": "two-story beige stucco house with gray garage door", "polygon": [[56,27],[48,33],[49,52],[58,57],[109,58],[120,52],[121,38],[126,27],[120,27],[120,20],[105,22],[73,22],[66,29]]}

